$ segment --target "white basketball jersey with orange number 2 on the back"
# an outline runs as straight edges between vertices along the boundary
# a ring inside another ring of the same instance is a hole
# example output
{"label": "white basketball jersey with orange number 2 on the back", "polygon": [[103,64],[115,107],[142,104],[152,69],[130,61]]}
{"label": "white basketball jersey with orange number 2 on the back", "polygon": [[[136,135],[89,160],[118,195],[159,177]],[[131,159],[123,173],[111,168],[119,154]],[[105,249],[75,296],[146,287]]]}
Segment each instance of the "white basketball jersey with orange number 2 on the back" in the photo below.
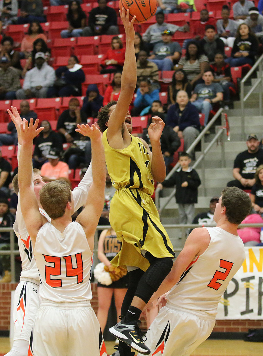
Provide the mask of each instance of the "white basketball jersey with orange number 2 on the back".
{"label": "white basketball jersey with orange number 2 on the back", "polygon": [[220,298],[241,267],[245,252],[239,236],[220,227],[204,229],[211,237],[209,246],[190,263],[166,298],[175,307],[216,315]]}

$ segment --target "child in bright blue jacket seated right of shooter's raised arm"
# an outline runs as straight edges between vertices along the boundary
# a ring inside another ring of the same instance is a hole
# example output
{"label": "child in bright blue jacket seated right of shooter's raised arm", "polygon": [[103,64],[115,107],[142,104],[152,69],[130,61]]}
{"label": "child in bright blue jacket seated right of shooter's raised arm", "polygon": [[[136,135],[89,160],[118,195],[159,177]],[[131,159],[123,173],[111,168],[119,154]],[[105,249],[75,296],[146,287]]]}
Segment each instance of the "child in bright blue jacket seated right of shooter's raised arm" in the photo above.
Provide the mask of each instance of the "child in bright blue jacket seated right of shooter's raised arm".
{"label": "child in bright blue jacket seated right of shooter's raised arm", "polygon": [[151,88],[151,82],[145,78],[140,81],[140,86],[136,91],[136,98],[131,110],[132,116],[139,116],[140,112],[151,105],[154,100],[159,100],[159,90]]}

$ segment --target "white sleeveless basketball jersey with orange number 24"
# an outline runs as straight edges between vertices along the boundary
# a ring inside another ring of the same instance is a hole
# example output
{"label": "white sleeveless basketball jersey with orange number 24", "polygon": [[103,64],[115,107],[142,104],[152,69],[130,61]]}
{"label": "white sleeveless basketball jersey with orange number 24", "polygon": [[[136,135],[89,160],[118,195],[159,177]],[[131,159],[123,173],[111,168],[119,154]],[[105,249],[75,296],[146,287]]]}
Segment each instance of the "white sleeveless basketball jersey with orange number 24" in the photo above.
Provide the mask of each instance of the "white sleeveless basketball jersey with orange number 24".
{"label": "white sleeveless basketball jersey with orange number 24", "polygon": [[92,299],[92,252],[82,226],[76,221],[63,232],[51,223],[38,231],[34,255],[40,273],[40,297],[53,302]]}

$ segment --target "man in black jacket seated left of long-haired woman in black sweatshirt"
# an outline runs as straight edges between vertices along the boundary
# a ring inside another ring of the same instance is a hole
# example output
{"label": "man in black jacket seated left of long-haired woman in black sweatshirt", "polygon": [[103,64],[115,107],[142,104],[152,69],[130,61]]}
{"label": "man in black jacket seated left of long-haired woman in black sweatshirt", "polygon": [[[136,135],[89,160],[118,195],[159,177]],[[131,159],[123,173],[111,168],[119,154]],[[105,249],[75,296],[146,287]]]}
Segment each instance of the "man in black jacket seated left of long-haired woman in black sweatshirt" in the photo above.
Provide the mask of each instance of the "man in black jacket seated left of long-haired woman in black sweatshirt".
{"label": "man in black jacket seated left of long-haired woman in black sweatshirt", "polygon": [[213,62],[215,60],[216,52],[224,53],[225,44],[218,38],[215,26],[206,25],[205,28],[205,37],[200,41],[200,49],[201,52],[206,55],[209,62]]}

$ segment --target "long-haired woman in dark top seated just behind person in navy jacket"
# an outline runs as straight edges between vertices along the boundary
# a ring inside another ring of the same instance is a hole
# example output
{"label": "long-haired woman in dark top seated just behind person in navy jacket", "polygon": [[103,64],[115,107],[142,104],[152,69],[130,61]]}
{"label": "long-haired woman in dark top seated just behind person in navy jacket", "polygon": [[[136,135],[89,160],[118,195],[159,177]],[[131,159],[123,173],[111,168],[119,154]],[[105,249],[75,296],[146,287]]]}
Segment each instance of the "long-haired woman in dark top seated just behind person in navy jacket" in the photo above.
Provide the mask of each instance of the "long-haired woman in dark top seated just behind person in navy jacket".
{"label": "long-haired woman in dark top seated just behind person in navy jacket", "polygon": [[172,83],[168,87],[167,105],[176,103],[176,95],[179,90],[186,91],[189,98],[192,95],[192,86],[188,82],[184,69],[177,69],[172,75]]}

